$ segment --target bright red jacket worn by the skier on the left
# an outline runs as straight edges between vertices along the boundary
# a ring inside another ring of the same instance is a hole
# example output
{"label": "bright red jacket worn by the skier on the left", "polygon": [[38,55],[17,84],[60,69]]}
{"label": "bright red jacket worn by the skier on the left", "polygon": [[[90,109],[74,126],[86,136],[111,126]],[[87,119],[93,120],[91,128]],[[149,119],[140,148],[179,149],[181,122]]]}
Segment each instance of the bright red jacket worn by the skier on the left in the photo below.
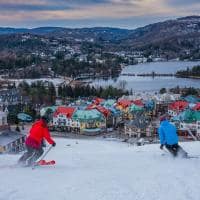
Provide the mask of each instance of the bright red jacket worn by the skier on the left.
{"label": "bright red jacket worn by the skier on the left", "polygon": [[41,119],[32,125],[26,139],[26,145],[38,149],[40,148],[43,139],[46,139],[49,144],[54,143],[46,123]]}

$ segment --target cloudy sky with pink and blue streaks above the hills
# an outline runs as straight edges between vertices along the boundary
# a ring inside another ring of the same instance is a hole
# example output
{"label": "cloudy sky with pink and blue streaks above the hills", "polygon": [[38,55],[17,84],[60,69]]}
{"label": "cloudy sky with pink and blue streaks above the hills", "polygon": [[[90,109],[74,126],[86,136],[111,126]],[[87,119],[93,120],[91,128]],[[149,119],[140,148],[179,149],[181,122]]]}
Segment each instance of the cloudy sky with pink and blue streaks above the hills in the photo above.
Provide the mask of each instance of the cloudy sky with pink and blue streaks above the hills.
{"label": "cloudy sky with pink and blue streaks above the hills", "polygon": [[0,0],[0,26],[134,29],[199,15],[200,0]]}

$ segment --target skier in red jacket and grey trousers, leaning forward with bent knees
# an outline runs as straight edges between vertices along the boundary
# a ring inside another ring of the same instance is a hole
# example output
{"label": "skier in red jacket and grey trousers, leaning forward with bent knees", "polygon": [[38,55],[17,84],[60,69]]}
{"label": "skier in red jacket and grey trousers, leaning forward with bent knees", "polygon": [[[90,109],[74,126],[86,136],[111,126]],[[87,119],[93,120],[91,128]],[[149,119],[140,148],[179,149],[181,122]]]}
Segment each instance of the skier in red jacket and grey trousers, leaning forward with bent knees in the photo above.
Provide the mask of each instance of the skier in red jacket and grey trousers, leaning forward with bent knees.
{"label": "skier in red jacket and grey trousers, leaning forward with bent knees", "polygon": [[27,152],[19,159],[19,164],[32,165],[43,154],[43,139],[46,139],[53,147],[56,146],[56,143],[50,136],[47,122],[48,118],[44,116],[32,125],[25,141]]}

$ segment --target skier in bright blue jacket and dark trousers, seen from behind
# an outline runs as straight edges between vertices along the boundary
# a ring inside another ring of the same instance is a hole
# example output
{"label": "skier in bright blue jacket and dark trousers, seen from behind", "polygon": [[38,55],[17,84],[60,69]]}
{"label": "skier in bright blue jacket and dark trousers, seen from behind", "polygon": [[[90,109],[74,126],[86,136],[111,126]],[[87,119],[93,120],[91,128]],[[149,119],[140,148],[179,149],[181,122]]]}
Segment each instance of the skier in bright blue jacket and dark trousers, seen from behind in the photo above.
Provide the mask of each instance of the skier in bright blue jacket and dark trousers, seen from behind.
{"label": "skier in bright blue jacket and dark trousers, seen from behind", "polygon": [[178,144],[178,135],[176,127],[169,121],[169,116],[164,115],[160,118],[160,127],[158,129],[160,138],[160,149],[165,146],[167,150],[173,155],[180,155],[181,157],[187,157],[187,153]]}

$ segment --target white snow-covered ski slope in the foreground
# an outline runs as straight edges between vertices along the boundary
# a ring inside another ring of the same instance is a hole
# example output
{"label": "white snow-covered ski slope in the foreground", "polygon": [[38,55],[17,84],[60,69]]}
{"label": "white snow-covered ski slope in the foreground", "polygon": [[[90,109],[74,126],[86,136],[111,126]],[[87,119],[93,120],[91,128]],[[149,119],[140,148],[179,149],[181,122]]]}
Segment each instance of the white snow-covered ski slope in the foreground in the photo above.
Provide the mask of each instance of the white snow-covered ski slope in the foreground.
{"label": "white snow-covered ski slope in the foreground", "polygon": [[[199,200],[200,159],[162,156],[142,147],[101,140],[57,139],[56,166],[9,168],[19,155],[0,155],[0,200]],[[68,145],[71,146],[68,146]],[[200,154],[200,143],[183,143]]]}

